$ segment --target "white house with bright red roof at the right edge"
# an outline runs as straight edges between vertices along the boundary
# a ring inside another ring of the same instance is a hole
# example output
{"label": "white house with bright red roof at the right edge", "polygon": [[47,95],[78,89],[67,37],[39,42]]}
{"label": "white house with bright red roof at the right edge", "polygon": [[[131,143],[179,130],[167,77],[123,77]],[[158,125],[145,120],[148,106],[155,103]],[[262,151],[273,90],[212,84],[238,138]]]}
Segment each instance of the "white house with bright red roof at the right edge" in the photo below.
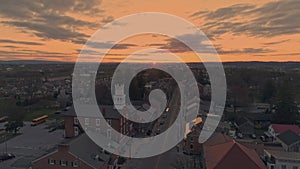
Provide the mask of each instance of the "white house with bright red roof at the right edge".
{"label": "white house with bright red roof at the right edge", "polygon": [[268,135],[270,135],[275,140],[279,134],[284,133],[288,130],[291,130],[294,133],[300,135],[299,126],[291,124],[271,124],[268,129]]}

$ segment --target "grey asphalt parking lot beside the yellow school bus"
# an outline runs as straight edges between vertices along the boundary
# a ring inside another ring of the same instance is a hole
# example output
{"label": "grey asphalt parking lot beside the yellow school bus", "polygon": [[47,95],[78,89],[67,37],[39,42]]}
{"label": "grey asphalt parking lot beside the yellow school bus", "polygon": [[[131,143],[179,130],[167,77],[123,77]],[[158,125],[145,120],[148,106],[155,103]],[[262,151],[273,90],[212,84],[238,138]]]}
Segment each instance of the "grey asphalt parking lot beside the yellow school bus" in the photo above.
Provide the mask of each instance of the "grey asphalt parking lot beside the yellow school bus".
{"label": "grey asphalt parking lot beside the yellow school bus", "polygon": [[[20,130],[22,133],[7,141],[7,152],[13,153],[16,158],[0,162],[0,168],[26,168],[33,159],[36,159],[49,151],[54,150],[56,145],[63,141],[63,130],[48,132],[45,124],[25,126]],[[6,151],[5,143],[0,144],[0,153]]]}

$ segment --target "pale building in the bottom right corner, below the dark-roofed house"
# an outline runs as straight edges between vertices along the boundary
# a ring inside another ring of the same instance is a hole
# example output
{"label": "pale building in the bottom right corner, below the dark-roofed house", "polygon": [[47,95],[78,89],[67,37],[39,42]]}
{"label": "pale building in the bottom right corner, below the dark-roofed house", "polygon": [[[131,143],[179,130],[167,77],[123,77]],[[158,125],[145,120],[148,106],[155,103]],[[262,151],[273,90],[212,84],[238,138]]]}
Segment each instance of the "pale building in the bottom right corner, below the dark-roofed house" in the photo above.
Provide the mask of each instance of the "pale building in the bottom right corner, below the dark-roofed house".
{"label": "pale building in the bottom right corner, below the dark-roofed house", "polygon": [[267,149],[265,162],[268,169],[299,169],[300,153]]}

